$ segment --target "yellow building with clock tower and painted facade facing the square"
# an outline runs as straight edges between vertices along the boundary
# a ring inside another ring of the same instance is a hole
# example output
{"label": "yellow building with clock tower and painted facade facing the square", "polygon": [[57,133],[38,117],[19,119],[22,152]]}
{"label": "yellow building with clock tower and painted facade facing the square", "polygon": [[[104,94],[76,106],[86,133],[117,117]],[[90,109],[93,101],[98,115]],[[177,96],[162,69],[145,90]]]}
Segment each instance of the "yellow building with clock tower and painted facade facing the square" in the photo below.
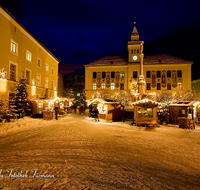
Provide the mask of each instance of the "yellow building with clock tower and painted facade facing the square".
{"label": "yellow building with clock tower and painted facade facing the square", "polygon": [[85,65],[86,99],[96,92],[137,95],[191,90],[192,62],[168,55],[144,56],[143,44],[134,26],[127,45],[128,57],[105,57]]}

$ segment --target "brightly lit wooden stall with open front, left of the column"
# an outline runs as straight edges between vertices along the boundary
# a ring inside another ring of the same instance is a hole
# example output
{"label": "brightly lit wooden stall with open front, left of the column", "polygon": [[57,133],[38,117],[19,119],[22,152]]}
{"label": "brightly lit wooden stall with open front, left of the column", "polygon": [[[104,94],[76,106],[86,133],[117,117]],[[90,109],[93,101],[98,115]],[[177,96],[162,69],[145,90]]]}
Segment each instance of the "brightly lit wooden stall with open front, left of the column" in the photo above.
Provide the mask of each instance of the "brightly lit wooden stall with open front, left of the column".
{"label": "brightly lit wooden stall with open front, left of the column", "polygon": [[99,120],[105,122],[113,122],[121,120],[121,104],[112,100],[104,100],[96,98],[90,102],[93,107],[99,111]]}

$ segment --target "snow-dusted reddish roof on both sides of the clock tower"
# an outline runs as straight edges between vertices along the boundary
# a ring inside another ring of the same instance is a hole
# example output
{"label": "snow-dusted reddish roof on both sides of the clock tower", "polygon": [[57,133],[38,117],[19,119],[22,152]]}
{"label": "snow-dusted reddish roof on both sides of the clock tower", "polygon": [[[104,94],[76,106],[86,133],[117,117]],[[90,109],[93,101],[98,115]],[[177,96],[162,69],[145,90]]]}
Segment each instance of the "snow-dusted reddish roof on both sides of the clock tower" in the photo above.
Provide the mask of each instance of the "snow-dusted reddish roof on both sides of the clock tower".
{"label": "snow-dusted reddish roof on both sides of the clock tower", "polygon": [[[185,61],[183,59],[175,58],[169,55],[156,55],[156,56],[145,56],[144,57],[144,65],[155,65],[155,64],[192,64],[191,61]],[[90,64],[85,65],[88,66],[112,66],[112,65],[127,65],[128,58],[120,57],[120,56],[110,56],[104,57],[97,61],[94,61]]]}

